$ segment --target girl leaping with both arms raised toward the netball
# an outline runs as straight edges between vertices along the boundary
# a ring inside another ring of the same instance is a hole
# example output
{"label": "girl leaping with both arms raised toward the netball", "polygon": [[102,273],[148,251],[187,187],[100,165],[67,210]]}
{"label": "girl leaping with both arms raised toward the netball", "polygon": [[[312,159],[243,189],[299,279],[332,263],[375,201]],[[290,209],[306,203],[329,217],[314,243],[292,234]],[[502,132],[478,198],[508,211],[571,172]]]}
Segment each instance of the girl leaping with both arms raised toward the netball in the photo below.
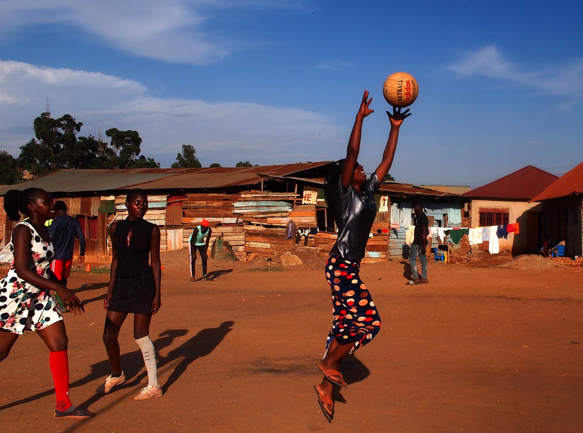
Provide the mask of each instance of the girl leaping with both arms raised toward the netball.
{"label": "girl leaping with both arms raised toward the netball", "polygon": [[324,184],[326,204],[338,227],[338,240],[332,247],[324,271],[332,288],[334,320],[326,340],[324,358],[318,362],[324,379],[314,388],[322,413],[329,422],[332,422],[334,404],[332,385],[346,387],[339,371],[340,361],[369,343],[381,328],[377,307],[359,276],[360,260],[364,257],[368,234],[377,214],[374,192],[391,168],[399,126],[403,119],[411,115],[409,109],[401,112],[400,108],[393,108],[392,114],[387,111],[391,122],[387,146],[381,164],[367,180],[363,167],[357,161],[363,119],[374,112],[368,108],[373,98],[368,101],[367,98],[368,91],[365,90],[350,134],[346,159],[336,162]]}

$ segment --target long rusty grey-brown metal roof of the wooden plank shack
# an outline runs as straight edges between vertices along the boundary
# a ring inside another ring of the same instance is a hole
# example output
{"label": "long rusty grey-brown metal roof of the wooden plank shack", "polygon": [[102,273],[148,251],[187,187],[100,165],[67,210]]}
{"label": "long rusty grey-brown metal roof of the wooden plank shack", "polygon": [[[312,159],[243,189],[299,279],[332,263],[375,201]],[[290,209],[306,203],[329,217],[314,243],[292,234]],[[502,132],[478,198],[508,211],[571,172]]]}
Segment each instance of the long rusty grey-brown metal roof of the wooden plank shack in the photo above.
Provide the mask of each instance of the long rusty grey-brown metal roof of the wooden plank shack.
{"label": "long rusty grey-brown metal roof of the wooden plank shack", "polygon": [[114,189],[221,188],[254,185],[261,182],[257,173],[293,174],[325,166],[318,163],[282,164],[263,167],[216,168],[133,168],[128,170],[57,170],[39,178],[0,189],[43,188],[48,192],[111,191]]}

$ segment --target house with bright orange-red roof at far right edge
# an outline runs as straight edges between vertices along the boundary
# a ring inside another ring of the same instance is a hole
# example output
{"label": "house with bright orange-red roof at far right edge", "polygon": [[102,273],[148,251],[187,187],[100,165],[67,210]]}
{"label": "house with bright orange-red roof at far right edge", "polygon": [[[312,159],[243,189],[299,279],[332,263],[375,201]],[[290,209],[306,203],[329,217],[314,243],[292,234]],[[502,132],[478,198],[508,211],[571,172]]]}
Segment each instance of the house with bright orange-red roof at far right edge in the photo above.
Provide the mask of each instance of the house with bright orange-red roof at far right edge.
{"label": "house with bright orange-red roof at far right edge", "polygon": [[568,171],[530,201],[541,203],[543,235],[548,234],[551,245],[566,240],[566,256],[583,255],[583,162]]}

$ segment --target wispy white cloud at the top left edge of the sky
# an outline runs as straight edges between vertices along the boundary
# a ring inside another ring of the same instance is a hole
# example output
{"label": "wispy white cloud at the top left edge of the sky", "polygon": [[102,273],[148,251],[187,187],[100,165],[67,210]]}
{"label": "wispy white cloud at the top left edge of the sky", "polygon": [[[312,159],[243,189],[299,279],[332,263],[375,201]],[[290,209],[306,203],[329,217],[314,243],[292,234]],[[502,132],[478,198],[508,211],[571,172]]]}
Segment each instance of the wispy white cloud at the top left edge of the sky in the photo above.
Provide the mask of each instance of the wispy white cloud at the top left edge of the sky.
{"label": "wispy white cloud at the top left edge of the sky", "polygon": [[[11,30],[71,26],[139,57],[205,65],[246,45],[210,25],[213,16],[241,8],[280,8],[276,0],[2,0],[0,41]],[[299,8],[298,2],[288,7]]]}

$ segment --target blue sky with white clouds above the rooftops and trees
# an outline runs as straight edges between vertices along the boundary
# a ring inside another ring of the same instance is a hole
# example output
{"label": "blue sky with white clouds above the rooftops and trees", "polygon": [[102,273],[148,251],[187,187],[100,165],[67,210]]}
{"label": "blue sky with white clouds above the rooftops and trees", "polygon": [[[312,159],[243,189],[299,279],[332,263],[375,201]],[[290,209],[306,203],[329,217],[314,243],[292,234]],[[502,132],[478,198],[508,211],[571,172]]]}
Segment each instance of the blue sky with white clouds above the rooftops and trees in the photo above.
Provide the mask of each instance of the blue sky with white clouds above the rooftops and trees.
{"label": "blue sky with white clouds above the rooftops and trees", "polygon": [[420,96],[396,180],[475,187],[583,160],[583,6],[436,3],[3,0],[0,148],[17,155],[49,98],[82,135],[136,129],[163,166],[183,143],[204,166],[334,160],[368,89],[359,160],[373,171],[382,83],[407,71]]}

